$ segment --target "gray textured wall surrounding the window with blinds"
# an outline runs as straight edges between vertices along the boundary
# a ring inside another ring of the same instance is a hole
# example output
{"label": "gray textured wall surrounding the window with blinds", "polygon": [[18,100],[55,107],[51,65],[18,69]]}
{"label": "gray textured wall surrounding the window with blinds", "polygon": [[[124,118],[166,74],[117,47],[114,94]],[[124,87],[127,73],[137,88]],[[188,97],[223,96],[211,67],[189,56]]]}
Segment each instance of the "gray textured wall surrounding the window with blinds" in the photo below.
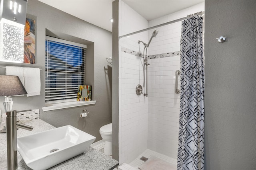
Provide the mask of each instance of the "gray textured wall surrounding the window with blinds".
{"label": "gray textured wall surrounding the window with blinds", "polygon": [[[112,56],[112,33],[37,0],[28,1],[27,16],[36,20],[36,64],[1,63],[1,65],[41,68],[41,95],[13,97],[13,109],[25,110],[39,108],[40,118],[55,127],[72,125],[94,135],[96,141],[102,139],[99,133],[100,127],[112,122],[112,67],[108,65],[105,59]],[[90,65],[90,67],[88,66],[86,68],[86,75],[89,78],[86,80],[86,83],[93,84],[91,81],[94,80],[92,89],[93,100],[97,100],[95,105],[55,111],[42,111],[41,107],[44,107],[46,29],[93,42],[87,46],[90,49],[87,52],[90,55],[94,54],[94,63],[93,59],[88,59],[88,61],[92,62],[92,65],[94,64],[94,67]],[[93,75],[93,72],[94,77],[90,76],[90,74]],[[4,69],[0,69],[0,74],[5,74]],[[2,102],[4,98],[1,97],[0,100]],[[1,108],[3,109],[2,106]],[[90,109],[90,113],[86,118],[79,117],[83,108]]]}

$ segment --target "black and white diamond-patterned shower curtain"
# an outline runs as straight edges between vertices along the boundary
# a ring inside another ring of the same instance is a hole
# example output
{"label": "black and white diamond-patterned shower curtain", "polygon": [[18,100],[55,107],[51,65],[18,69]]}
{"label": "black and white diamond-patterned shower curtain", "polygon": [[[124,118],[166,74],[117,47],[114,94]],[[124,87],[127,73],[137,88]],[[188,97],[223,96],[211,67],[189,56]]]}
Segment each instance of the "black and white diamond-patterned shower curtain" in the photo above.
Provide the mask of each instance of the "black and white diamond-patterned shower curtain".
{"label": "black and white diamond-patterned shower curtain", "polygon": [[182,21],[177,170],[204,170],[203,17]]}

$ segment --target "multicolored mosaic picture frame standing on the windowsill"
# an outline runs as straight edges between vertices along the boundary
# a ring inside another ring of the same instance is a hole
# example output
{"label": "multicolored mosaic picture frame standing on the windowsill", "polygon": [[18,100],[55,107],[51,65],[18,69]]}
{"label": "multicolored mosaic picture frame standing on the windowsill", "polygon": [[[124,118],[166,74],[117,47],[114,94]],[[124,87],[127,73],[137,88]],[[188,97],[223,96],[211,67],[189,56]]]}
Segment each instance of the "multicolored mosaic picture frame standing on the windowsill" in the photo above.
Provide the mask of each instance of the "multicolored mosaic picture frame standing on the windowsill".
{"label": "multicolored mosaic picture frame standing on the windowsill", "polygon": [[92,100],[92,86],[80,85],[78,86],[77,101],[91,101]]}

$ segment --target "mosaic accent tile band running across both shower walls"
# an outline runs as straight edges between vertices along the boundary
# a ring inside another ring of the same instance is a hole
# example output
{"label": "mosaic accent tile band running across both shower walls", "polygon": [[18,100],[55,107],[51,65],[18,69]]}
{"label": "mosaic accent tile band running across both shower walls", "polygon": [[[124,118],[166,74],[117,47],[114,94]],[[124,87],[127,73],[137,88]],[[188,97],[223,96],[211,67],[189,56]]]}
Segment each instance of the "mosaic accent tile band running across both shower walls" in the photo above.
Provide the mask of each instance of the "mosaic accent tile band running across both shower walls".
{"label": "mosaic accent tile band running across both shower walls", "polygon": [[[142,53],[138,53],[136,51],[133,51],[131,49],[127,49],[124,47],[121,47],[121,51],[124,53],[129,53],[131,55],[135,55],[138,57],[143,57]],[[158,58],[165,58],[165,57],[173,57],[180,55],[180,51],[170,52],[170,53],[162,53],[162,54],[156,54],[156,55],[148,55],[148,59],[158,59]]]}

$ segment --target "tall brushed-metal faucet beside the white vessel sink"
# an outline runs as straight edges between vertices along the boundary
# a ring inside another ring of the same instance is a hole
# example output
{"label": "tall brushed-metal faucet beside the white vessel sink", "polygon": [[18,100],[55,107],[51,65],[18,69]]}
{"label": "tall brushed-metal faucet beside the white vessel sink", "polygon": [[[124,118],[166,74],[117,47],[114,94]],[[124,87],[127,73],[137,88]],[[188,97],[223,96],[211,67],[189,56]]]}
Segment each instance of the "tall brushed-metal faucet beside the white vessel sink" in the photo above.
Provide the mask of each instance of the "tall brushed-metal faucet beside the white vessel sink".
{"label": "tall brushed-metal faucet beside the white vessel sink", "polygon": [[17,127],[32,131],[33,127],[17,122],[16,110],[6,111],[7,169],[17,170]]}

